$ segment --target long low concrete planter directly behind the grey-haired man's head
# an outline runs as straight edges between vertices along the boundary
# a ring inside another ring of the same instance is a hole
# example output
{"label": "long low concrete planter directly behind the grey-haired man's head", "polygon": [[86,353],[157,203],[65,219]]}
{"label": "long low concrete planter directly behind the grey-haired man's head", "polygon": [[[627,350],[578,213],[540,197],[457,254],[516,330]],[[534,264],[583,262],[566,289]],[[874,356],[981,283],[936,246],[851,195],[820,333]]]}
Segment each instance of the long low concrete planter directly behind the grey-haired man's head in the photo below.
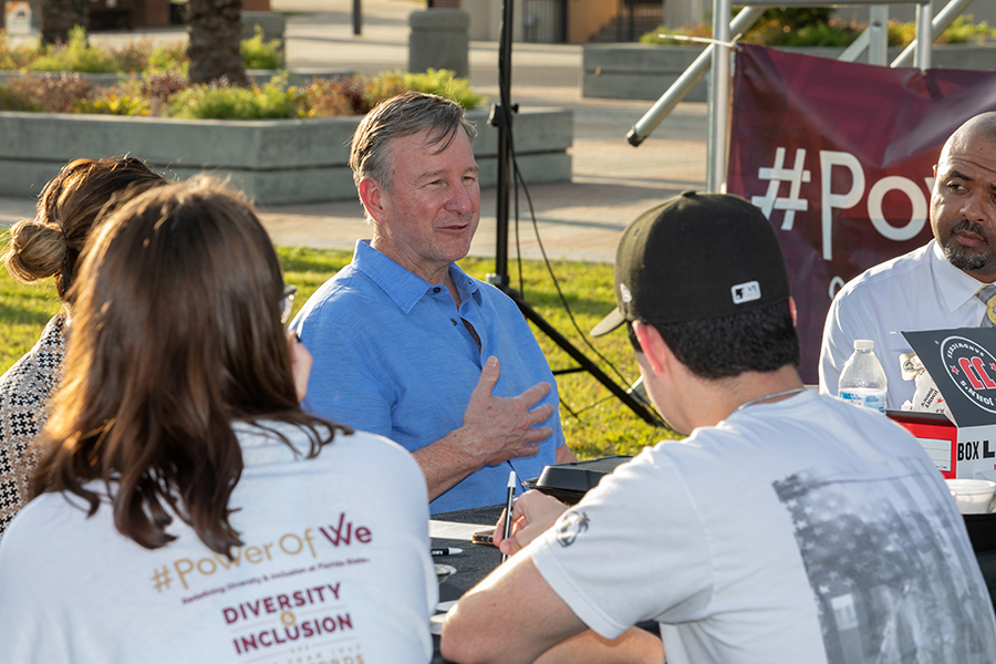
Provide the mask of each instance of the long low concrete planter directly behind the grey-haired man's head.
{"label": "long low concrete planter directly behind the grey-haired man's head", "polygon": [[[495,186],[498,133],[487,111],[470,112],[481,186]],[[257,203],[356,196],[347,143],[359,116],[220,121],[0,112],[0,196],[37,196],[70,159],[131,154],[180,178],[231,177]],[[529,183],[570,181],[573,113],[536,110],[515,118],[517,160]]]}

